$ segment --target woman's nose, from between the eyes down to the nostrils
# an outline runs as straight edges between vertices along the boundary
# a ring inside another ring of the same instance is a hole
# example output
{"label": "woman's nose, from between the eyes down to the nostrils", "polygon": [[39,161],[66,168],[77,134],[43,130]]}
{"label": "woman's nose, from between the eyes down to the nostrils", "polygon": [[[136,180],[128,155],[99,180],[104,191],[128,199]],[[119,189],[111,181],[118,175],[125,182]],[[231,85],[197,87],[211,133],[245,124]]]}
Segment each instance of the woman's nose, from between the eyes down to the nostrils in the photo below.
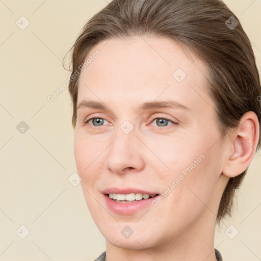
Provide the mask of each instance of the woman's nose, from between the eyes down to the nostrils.
{"label": "woman's nose, from between the eyes down to the nostrils", "polygon": [[136,136],[135,129],[128,134],[119,129],[107,153],[105,165],[111,172],[117,174],[130,170],[139,172],[145,166],[144,151],[141,149],[141,142]]}

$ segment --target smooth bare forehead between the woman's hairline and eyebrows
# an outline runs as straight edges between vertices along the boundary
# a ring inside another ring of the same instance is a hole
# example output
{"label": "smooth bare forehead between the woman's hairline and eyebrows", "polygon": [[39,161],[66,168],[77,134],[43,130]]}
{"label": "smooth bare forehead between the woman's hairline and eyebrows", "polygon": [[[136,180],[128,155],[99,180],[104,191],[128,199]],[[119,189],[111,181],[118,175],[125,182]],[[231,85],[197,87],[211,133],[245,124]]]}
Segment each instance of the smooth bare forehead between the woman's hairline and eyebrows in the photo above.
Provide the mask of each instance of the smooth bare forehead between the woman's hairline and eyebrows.
{"label": "smooth bare forehead between the woman's hairline and eyebrows", "polygon": [[81,72],[80,101],[81,96],[87,95],[96,100],[98,96],[154,100],[158,96],[169,98],[169,95],[190,100],[189,94],[199,95],[197,91],[201,96],[207,95],[205,63],[193,50],[186,49],[185,54],[172,39],[113,38],[95,45],[87,59],[97,50],[100,54]]}

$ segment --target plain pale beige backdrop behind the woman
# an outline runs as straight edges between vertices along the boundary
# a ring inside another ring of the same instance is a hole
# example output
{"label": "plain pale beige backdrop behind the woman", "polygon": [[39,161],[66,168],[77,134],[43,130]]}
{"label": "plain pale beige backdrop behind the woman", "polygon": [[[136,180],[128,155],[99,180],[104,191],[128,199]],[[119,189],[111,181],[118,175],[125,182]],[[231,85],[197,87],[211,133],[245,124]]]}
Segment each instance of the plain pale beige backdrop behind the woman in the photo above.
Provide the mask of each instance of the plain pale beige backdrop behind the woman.
{"label": "plain pale beige backdrop behind the woman", "polygon": [[[261,0],[225,3],[242,22],[260,69]],[[106,5],[0,0],[0,260],[87,261],[105,250],[81,185],[68,181],[76,172],[68,88],[53,102],[47,96],[70,75],[61,61],[84,23]],[[30,22],[24,30],[16,25],[26,25],[21,16]],[[16,128],[21,121],[30,127],[20,129],[23,134]],[[261,259],[260,169],[261,151],[238,193],[233,219],[217,229],[215,247],[225,260]],[[30,230],[24,239],[21,225]]]}

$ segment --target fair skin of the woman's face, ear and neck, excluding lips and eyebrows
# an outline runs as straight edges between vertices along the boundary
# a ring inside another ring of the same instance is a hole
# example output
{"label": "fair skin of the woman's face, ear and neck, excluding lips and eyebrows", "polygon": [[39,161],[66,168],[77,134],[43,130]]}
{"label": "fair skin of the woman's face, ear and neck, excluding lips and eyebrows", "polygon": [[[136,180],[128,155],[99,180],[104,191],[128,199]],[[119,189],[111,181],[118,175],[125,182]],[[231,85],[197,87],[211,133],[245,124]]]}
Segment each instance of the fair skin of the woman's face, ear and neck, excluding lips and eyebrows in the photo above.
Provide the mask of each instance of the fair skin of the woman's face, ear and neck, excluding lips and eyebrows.
{"label": "fair skin of the woman's face, ear and neck, excluding lips and eyebrows", "polygon": [[[216,260],[219,202],[229,177],[243,172],[254,157],[256,115],[246,113],[221,140],[215,103],[206,92],[207,67],[173,40],[115,38],[98,43],[89,54],[96,49],[101,54],[80,75],[74,155],[91,216],[106,238],[107,260]],[[181,82],[172,76],[177,68],[187,74]],[[85,107],[87,99],[106,109]],[[188,109],[138,108],[166,100]],[[100,121],[85,123],[87,117]],[[163,124],[162,118],[169,121]],[[128,134],[121,128],[126,120],[134,127]],[[201,154],[204,159],[158,205],[126,215],[108,208],[102,193],[107,188],[161,195]],[[129,238],[121,233],[126,225],[133,230]]]}

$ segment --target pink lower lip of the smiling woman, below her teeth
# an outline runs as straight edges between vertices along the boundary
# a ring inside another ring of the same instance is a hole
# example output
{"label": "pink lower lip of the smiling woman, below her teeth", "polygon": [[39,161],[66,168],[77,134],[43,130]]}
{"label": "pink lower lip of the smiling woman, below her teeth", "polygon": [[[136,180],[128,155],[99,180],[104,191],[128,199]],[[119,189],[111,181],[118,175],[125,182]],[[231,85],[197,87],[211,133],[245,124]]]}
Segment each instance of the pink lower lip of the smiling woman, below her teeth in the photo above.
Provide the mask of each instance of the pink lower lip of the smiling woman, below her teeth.
{"label": "pink lower lip of the smiling woman, below her teeth", "polygon": [[139,212],[146,206],[152,206],[152,201],[158,196],[148,199],[137,200],[132,203],[119,203],[111,199],[109,196],[105,196],[105,201],[108,208],[116,214],[130,215]]}

